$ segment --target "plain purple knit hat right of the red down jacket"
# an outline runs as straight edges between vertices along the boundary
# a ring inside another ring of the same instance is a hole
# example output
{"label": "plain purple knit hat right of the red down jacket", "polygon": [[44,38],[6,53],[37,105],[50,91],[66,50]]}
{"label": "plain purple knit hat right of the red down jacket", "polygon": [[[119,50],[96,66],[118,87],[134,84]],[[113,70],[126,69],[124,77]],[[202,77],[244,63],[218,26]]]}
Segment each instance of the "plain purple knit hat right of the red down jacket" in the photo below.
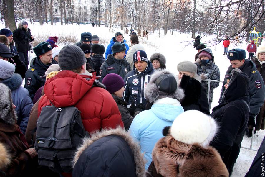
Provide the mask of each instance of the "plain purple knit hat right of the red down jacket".
{"label": "plain purple knit hat right of the red down jacket", "polygon": [[122,77],[114,73],[107,74],[103,78],[102,83],[107,87],[106,90],[111,94],[125,86]]}

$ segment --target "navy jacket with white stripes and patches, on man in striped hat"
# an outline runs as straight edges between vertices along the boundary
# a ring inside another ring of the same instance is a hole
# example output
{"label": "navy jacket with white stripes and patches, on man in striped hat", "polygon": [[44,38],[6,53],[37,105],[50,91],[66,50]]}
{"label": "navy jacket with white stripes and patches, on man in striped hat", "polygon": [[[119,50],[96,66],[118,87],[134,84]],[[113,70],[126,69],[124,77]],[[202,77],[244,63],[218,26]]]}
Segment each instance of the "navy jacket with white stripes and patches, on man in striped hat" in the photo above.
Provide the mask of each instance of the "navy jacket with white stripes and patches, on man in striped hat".
{"label": "navy jacket with white stripes and patches, on man in striped hat", "polygon": [[145,83],[149,83],[150,76],[154,71],[152,63],[148,60],[145,71],[139,72],[133,67],[133,70],[126,74],[124,78],[125,92],[123,99],[128,102],[128,108],[132,104],[132,101],[135,101],[135,104],[146,104],[144,96]]}

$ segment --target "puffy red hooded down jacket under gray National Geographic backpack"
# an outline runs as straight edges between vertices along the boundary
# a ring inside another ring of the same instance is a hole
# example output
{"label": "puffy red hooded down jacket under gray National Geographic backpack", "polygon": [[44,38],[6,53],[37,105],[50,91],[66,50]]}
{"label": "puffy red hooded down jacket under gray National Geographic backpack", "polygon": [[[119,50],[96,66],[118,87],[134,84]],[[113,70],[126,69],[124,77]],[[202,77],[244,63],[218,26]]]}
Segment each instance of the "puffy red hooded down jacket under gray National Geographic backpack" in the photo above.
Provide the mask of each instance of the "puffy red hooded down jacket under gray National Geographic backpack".
{"label": "puffy red hooded down jacket under gray National Geographic backpack", "polygon": [[[91,78],[86,80],[85,78]],[[84,128],[92,133],[102,128],[123,127],[118,106],[110,93],[100,87],[93,87],[95,77],[79,75],[72,71],[60,71],[47,80],[44,93],[38,105],[38,117],[42,107],[75,106],[81,111]]]}

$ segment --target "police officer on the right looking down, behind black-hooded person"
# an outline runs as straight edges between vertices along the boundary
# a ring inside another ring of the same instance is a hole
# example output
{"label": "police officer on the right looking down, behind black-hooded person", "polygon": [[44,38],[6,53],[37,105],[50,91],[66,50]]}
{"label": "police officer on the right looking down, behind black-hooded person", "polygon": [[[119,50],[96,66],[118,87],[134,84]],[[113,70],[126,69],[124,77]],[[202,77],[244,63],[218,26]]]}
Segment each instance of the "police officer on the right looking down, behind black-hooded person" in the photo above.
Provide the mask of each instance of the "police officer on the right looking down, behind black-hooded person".
{"label": "police officer on the right looking down, behind black-hooded person", "polygon": [[[259,71],[257,71],[256,65],[251,60],[245,60],[246,52],[242,49],[232,49],[227,53],[227,58],[230,60],[231,65],[226,71],[226,75],[223,81],[223,87],[219,103],[221,102],[223,92],[225,91],[224,85],[227,78],[231,75],[231,71],[234,68],[240,69],[243,73],[246,73],[250,79],[249,88],[249,101],[250,101],[250,116],[248,125],[254,126],[255,115],[259,114],[259,108],[264,103],[265,88],[264,82]],[[250,132],[251,133],[251,132]]]}

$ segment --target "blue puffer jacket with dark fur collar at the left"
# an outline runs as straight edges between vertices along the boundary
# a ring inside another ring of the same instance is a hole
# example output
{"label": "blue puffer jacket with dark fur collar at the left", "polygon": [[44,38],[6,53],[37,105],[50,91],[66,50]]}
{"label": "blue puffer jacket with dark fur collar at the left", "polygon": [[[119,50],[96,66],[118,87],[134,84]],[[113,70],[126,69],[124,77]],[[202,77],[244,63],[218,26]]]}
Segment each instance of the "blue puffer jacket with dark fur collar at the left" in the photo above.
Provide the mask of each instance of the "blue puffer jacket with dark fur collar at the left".
{"label": "blue puffer jacket with dark fur collar at the left", "polygon": [[16,106],[17,124],[21,132],[24,134],[29,122],[29,113],[33,106],[32,100],[29,96],[29,91],[21,86],[22,78],[19,74],[14,73],[9,79],[1,81],[11,89],[12,101]]}

